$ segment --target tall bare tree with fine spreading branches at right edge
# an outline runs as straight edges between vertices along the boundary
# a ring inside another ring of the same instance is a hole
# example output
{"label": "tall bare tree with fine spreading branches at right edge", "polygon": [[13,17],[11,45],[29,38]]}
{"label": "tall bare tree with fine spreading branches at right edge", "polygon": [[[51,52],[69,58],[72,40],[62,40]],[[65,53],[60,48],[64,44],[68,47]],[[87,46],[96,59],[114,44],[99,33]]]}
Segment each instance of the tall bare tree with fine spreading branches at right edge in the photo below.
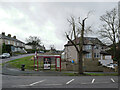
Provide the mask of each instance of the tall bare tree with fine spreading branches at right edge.
{"label": "tall bare tree with fine spreading branches at right edge", "polygon": [[103,22],[99,31],[100,35],[112,42],[113,56],[116,57],[116,43],[120,36],[117,9],[113,8],[111,11],[106,11],[104,15],[100,16],[100,20]]}

